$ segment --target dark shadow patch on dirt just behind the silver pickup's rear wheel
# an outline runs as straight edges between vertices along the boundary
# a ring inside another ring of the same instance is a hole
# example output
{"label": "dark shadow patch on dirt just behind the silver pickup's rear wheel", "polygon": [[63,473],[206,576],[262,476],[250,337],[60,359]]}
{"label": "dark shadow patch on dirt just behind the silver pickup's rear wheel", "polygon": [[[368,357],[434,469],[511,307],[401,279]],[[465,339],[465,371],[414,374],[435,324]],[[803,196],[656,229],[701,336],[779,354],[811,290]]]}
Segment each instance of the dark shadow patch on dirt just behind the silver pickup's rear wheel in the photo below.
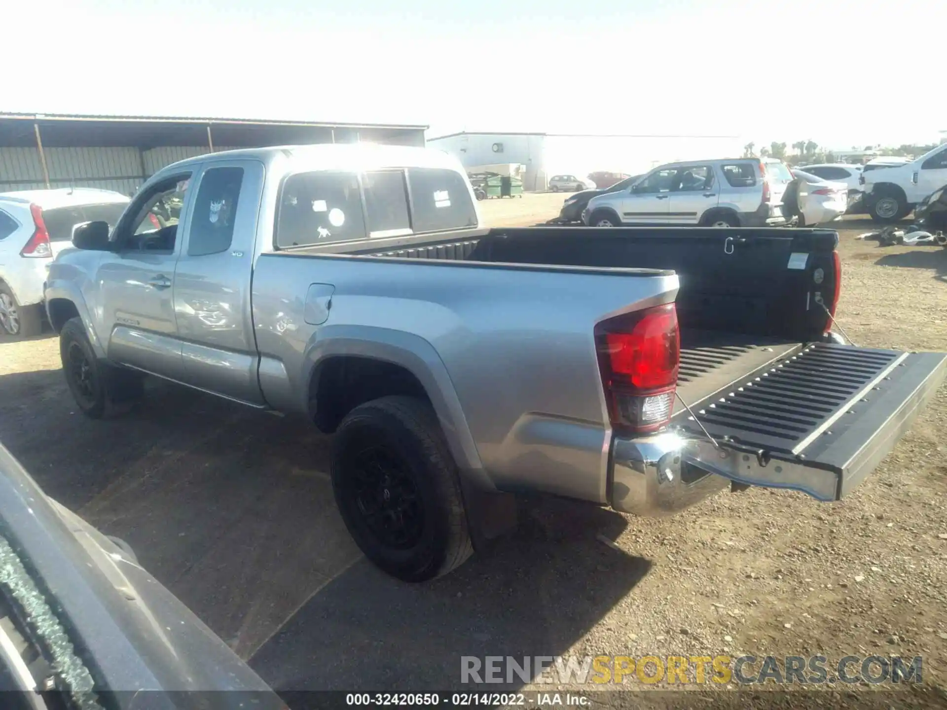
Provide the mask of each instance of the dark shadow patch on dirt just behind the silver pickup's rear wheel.
{"label": "dark shadow patch on dirt just behind the silver pickup's rear wheel", "polygon": [[[649,560],[597,538],[614,539],[624,526],[605,509],[531,500],[521,502],[519,529],[502,546],[433,582],[405,584],[362,559],[313,596],[251,666],[279,691],[473,690],[461,685],[462,656],[522,663],[563,654],[648,574]],[[510,680],[479,687],[523,684]]]}

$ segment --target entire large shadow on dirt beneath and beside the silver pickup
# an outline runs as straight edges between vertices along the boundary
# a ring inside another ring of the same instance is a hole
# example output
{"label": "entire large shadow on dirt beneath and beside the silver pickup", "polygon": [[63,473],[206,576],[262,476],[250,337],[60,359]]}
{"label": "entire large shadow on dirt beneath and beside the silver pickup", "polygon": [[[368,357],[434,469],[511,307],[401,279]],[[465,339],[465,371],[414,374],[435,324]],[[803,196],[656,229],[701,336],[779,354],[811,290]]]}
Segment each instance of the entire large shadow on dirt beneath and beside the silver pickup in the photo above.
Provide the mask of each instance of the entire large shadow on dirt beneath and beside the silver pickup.
{"label": "entire large shadow on dirt beneath and beside the silver pickup", "polygon": [[461,655],[563,653],[651,564],[597,539],[622,516],[545,498],[490,553],[403,584],[348,536],[328,437],[163,382],[93,421],[58,369],[0,376],[0,441],[281,690],[446,688]]}

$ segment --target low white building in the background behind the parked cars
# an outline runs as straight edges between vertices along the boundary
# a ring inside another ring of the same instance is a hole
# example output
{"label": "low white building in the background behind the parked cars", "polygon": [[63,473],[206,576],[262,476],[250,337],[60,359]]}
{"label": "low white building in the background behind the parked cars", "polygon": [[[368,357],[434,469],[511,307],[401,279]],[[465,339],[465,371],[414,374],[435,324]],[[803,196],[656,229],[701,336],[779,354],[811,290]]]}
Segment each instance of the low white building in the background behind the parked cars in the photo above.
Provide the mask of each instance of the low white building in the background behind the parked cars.
{"label": "low white building in the background behind the parked cars", "polygon": [[450,133],[427,145],[456,155],[465,168],[520,163],[523,186],[545,190],[560,173],[585,176],[598,170],[635,174],[676,160],[742,155],[737,135],[595,135],[576,133]]}

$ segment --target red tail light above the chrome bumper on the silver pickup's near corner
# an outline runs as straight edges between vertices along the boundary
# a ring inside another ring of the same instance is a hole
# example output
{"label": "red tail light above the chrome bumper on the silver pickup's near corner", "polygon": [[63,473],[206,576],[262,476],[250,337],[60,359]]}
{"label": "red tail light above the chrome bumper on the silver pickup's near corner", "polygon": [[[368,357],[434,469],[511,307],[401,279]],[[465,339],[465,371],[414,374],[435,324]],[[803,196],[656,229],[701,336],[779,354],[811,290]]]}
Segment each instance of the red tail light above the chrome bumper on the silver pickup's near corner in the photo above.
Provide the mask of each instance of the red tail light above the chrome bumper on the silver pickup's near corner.
{"label": "red tail light above the chrome bumper on the silver pickup's near corner", "polygon": [[674,304],[600,323],[596,346],[612,427],[643,433],[665,426],[674,409],[681,360]]}

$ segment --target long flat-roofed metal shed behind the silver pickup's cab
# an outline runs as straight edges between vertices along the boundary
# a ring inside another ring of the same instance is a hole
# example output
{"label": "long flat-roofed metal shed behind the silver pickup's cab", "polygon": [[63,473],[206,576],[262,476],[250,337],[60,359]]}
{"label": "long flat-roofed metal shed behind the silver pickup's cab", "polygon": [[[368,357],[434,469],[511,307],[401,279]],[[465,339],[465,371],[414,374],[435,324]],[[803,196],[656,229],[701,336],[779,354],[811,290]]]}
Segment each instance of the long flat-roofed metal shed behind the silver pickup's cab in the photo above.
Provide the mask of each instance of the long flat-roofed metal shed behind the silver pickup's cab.
{"label": "long flat-roofed metal shed behind the silver pickup's cab", "polygon": [[426,128],[237,118],[0,114],[0,192],[76,186],[130,194],[158,169],[205,152],[358,141],[423,146]]}

